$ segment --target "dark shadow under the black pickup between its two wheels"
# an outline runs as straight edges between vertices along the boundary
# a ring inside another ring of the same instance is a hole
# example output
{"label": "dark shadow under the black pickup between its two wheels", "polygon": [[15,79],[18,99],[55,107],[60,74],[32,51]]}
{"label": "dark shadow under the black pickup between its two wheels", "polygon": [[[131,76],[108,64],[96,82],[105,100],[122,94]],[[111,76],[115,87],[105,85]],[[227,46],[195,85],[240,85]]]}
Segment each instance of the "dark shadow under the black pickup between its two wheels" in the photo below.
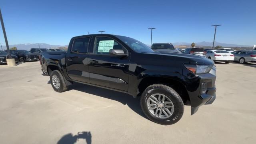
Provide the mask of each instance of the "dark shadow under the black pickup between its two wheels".
{"label": "dark shadow under the black pickup between its two wheels", "polygon": [[140,116],[146,118],[144,113],[142,112],[140,108],[140,97],[138,98],[133,98],[129,94],[125,94],[123,92],[116,92],[113,90],[108,90],[105,88],[98,88],[96,86],[89,86],[86,84],[80,84],[74,82],[69,88],[69,90],[79,90],[81,92],[86,92],[88,94],[93,94],[96,96],[100,96],[103,98],[108,98],[111,100],[116,100],[118,102],[121,102],[122,104],[127,104],[129,108],[131,108],[134,112],[139,114]]}

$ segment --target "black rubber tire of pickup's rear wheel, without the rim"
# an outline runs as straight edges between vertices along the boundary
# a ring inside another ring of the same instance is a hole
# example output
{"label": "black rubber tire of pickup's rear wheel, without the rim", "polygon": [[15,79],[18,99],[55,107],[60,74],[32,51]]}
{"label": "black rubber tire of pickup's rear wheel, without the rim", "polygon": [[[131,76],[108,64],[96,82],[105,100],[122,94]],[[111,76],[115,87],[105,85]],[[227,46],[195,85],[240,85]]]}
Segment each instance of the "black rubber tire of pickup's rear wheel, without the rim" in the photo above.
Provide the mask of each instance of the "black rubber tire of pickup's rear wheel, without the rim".
{"label": "black rubber tire of pickup's rear wheel, without the rim", "polygon": [[[54,87],[54,85],[52,83],[52,76],[57,76],[58,79],[60,80],[60,87],[59,88]],[[54,70],[54,71],[51,72],[50,82],[51,82],[52,88],[56,92],[65,92],[66,90],[68,90],[68,86],[66,85],[65,80],[64,80],[62,74],[60,73],[60,71],[58,71],[58,70]]]}

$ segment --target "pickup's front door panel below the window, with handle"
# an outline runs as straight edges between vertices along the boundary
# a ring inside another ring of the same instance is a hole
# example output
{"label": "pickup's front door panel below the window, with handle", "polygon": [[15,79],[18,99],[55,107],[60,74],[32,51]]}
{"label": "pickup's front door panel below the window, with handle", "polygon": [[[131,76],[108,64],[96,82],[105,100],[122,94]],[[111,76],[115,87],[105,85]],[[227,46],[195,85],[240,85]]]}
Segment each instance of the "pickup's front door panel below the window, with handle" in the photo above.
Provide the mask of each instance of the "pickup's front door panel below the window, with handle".
{"label": "pickup's front door panel below the window, with handle", "polygon": [[[97,63],[90,63],[93,60]],[[92,84],[128,91],[128,57],[90,55],[89,61]]]}

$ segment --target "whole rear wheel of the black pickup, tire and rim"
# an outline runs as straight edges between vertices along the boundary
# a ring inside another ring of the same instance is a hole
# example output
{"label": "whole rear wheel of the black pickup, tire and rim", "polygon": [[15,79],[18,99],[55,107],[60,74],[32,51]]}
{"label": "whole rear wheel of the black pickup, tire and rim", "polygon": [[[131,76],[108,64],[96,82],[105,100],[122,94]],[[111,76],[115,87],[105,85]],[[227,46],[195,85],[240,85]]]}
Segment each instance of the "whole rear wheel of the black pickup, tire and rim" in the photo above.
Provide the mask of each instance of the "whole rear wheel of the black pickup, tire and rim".
{"label": "whole rear wheel of the black pickup, tire and rim", "polygon": [[52,88],[56,92],[65,92],[66,90],[68,90],[64,78],[58,70],[52,71],[50,76],[50,82],[52,84]]}

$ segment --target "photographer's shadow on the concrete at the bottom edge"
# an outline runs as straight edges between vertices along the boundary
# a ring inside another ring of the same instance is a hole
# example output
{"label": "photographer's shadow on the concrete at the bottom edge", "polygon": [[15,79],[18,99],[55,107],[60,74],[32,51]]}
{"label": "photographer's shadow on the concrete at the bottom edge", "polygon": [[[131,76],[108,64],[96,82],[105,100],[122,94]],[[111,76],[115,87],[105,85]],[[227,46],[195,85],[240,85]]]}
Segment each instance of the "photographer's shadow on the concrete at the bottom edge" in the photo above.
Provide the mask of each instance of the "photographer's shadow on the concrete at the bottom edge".
{"label": "photographer's shadow on the concrete at the bottom edge", "polygon": [[91,132],[78,132],[76,135],[73,134],[65,134],[60,138],[57,144],[76,144],[76,142],[80,140],[85,140],[84,144],[92,144],[92,134]]}

